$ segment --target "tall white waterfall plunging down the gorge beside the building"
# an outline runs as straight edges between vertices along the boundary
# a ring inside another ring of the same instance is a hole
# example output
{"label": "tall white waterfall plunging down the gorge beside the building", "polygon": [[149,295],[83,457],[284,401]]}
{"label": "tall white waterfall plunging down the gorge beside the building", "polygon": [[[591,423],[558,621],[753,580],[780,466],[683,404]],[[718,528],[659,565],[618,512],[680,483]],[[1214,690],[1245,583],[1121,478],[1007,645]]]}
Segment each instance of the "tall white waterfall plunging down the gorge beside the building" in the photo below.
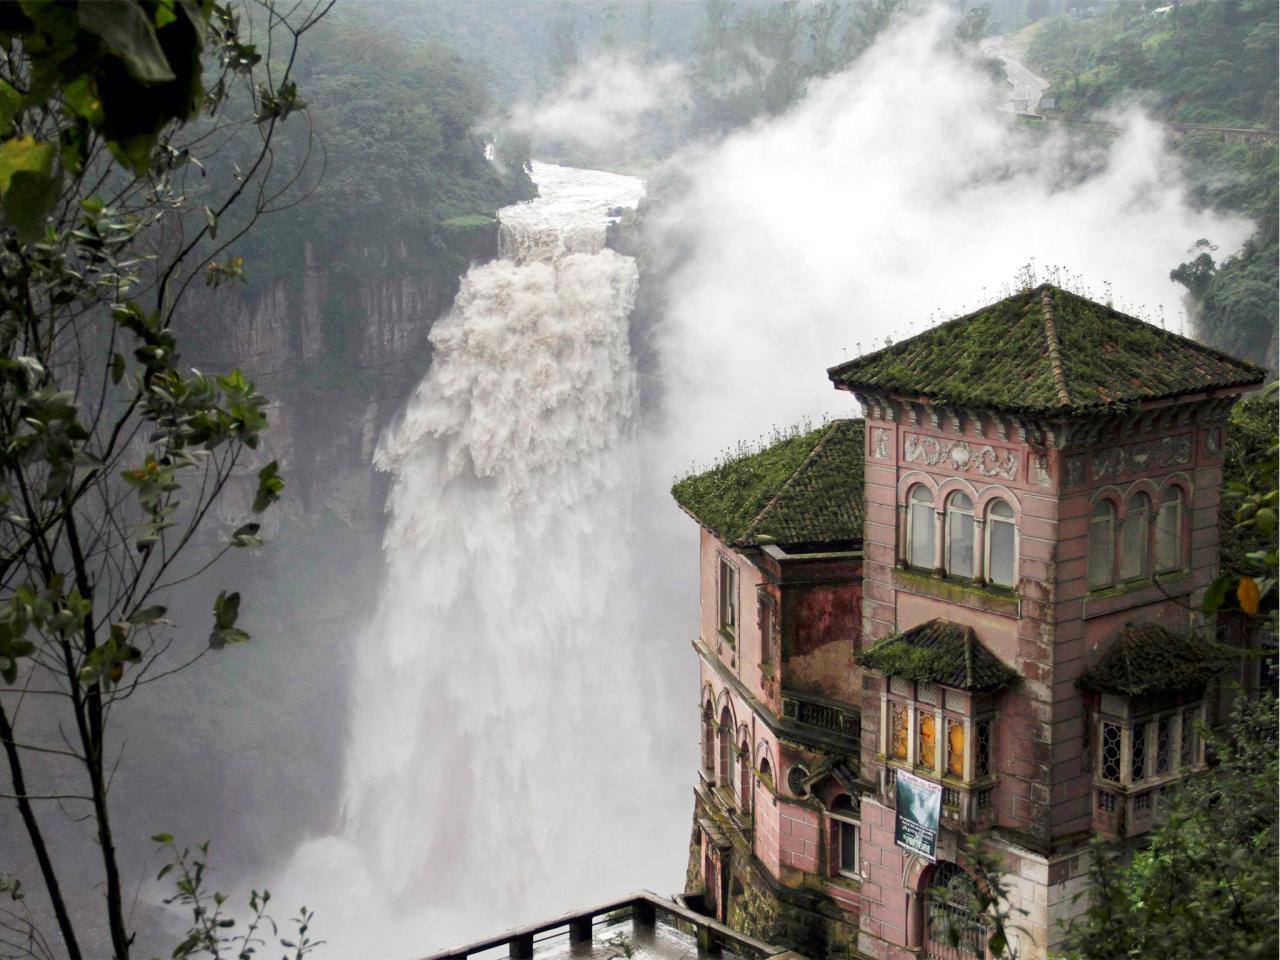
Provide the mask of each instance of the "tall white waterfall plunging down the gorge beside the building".
{"label": "tall white waterfall plunging down the gorge beside the building", "polygon": [[658,852],[672,882],[684,865],[644,829],[637,274],[604,246],[609,211],[643,183],[532,175],[540,196],[500,211],[502,259],[462,280],[375,457],[393,477],[387,580],[357,640],[344,836],[291,868],[308,902],[320,872],[358,891],[356,920],[332,904],[325,918],[319,897],[330,941],[334,920],[366,925],[339,932],[340,954],[421,954],[622,893]]}

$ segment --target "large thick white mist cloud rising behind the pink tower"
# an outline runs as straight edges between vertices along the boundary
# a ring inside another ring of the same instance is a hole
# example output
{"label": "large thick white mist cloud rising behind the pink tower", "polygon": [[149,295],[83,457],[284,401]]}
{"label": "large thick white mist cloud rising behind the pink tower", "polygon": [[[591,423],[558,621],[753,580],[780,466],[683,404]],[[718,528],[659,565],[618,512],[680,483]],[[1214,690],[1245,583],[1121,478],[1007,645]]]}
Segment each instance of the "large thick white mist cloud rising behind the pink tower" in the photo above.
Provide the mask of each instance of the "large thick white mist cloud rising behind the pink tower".
{"label": "large thick white mist cloud rising behind the pink tower", "polygon": [[1243,243],[1248,223],[1192,206],[1157,124],[1115,118],[1082,179],[1088,148],[998,114],[952,28],[938,9],[904,19],[787,114],[684,157],[687,192],[650,237],[689,251],[658,344],[669,470],[854,415],[826,367],[997,300],[1029,260],[1180,329],[1170,269],[1197,238]]}

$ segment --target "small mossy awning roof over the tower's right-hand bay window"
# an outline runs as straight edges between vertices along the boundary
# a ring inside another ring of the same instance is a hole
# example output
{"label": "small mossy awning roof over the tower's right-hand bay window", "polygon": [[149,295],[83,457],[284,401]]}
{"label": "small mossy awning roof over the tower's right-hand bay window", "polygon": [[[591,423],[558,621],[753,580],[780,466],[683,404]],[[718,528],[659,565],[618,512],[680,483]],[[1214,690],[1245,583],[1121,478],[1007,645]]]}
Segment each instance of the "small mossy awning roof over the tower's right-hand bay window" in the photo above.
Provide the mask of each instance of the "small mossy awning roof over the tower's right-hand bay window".
{"label": "small mossy awning roof over the tower's right-hand bay window", "polygon": [[1080,686],[1103,694],[1142,696],[1203,687],[1229,662],[1229,652],[1157,623],[1125,623],[1102,658],[1084,671]]}

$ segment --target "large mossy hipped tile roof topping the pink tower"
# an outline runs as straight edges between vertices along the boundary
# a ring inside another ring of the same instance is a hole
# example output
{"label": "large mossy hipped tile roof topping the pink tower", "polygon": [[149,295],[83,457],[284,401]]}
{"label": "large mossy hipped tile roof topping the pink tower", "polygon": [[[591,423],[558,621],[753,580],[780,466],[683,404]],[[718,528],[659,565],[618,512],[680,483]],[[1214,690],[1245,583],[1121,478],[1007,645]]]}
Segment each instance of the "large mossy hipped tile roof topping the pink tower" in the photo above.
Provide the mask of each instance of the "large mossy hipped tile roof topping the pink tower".
{"label": "large mossy hipped tile roof topping the pink tower", "polygon": [[1071,413],[1262,383],[1266,371],[1043,284],[833,366],[837,387]]}

